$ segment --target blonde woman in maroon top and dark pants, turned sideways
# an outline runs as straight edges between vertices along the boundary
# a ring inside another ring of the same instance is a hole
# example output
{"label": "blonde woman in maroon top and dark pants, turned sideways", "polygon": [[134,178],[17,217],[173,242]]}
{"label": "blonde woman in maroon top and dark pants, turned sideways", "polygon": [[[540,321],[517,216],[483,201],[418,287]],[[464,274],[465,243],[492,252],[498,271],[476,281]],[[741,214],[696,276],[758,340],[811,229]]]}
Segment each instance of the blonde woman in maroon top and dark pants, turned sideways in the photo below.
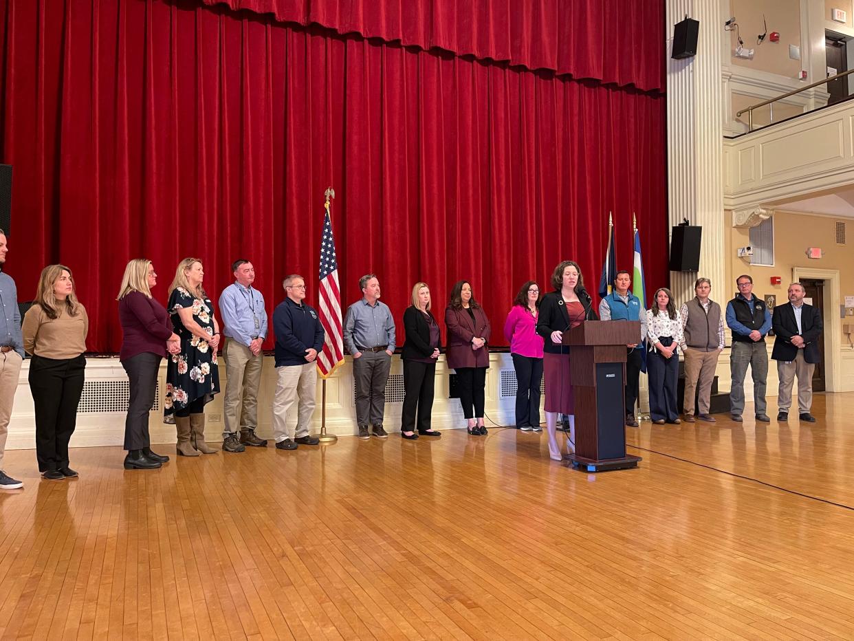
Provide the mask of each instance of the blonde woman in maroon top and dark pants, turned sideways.
{"label": "blonde woman in maroon top and dark pants, turned sideways", "polygon": [[155,403],[157,373],[167,350],[180,350],[166,308],[151,297],[157,274],[151,261],[127,263],[119,290],[119,321],[124,338],[119,360],[130,381],[131,399],[125,420],[125,469],[154,469],[169,460],[151,451],[149,412]]}

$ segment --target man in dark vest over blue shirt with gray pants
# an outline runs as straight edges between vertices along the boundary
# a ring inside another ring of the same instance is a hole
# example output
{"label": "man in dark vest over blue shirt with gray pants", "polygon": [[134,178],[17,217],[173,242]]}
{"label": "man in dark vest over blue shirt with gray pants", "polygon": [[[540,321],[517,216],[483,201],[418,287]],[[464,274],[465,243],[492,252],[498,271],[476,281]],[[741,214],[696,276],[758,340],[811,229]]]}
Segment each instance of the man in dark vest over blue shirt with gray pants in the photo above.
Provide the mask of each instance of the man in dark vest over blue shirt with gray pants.
{"label": "man in dark vest over blue shirt with gray pants", "polygon": [[768,382],[768,348],[765,336],[771,329],[771,313],[764,301],[753,296],[753,279],[746,273],[735,279],[739,293],[727,303],[727,326],[733,332],[733,349],[729,356],[729,412],[740,421],[745,409],[745,376],[747,366],[753,377],[753,404],[756,420],[770,421],[766,411],[765,385]]}

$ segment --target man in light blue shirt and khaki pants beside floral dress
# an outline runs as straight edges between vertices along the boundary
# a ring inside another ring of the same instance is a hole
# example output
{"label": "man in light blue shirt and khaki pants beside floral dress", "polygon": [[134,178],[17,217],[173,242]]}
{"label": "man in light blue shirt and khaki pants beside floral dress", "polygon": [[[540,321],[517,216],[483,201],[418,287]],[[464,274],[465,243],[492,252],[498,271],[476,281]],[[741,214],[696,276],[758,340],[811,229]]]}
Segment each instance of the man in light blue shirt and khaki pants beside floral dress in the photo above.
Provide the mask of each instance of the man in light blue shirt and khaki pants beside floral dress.
{"label": "man in light blue shirt and khaki pants beside floral dress", "polygon": [[[258,387],[264,355],[261,345],[267,335],[264,297],[252,283],[255,269],[247,260],[231,264],[235,282],[219,296],[225,346],[225,431],[222,449],[243,452],[246,445],[266,447],[266,439],[255,436],[258,427]],[[240,431],[238,438],[237,431]]]}

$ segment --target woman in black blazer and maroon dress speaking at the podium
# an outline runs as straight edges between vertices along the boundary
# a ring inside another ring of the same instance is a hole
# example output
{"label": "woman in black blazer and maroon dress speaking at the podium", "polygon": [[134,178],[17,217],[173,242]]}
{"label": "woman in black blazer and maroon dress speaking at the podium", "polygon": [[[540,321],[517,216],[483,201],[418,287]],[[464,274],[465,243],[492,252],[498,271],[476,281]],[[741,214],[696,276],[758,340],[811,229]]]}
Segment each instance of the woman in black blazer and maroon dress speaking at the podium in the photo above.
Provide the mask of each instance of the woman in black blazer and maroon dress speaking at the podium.
{"label": "woman in black blazer and maroon dress speaking at the podium", "polygon": [[558,413],[567,415],[570,434],[567,451],[575,443],[576,417],[570,381],[570,348],[562,344],[564,332],[581,325],[586,320],[596,320],[587,290],[584,289],[582,270],[577,262],[564,261],[554,268],[550,291],[542,297],[540,317],[536,332],[544,339],[543,371],[546,377],[546,429],[548,432],[548,455],[553,461],[563,456],[558,445]]}

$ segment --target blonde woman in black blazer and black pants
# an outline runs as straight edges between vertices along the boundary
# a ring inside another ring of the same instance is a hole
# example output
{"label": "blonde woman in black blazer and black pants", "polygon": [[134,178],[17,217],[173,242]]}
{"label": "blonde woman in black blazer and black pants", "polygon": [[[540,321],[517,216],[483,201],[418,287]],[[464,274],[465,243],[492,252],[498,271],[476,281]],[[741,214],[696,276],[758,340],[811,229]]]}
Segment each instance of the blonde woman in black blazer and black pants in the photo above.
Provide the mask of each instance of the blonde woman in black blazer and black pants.
{"label": "blonde woman in black blazer and black pants", "polygon": [[[415,440],[422,436],[442,436],[430,428],[436,361],[441,335],[439,324],[430,313],[430,287],[416,283],[412,287],[412,305],[403,313],[407,340],[403,344],[403,417],[401,437]],[[417,413],[417,416],[416,416]],[[418,434],[415,433],[416,418]]]}

